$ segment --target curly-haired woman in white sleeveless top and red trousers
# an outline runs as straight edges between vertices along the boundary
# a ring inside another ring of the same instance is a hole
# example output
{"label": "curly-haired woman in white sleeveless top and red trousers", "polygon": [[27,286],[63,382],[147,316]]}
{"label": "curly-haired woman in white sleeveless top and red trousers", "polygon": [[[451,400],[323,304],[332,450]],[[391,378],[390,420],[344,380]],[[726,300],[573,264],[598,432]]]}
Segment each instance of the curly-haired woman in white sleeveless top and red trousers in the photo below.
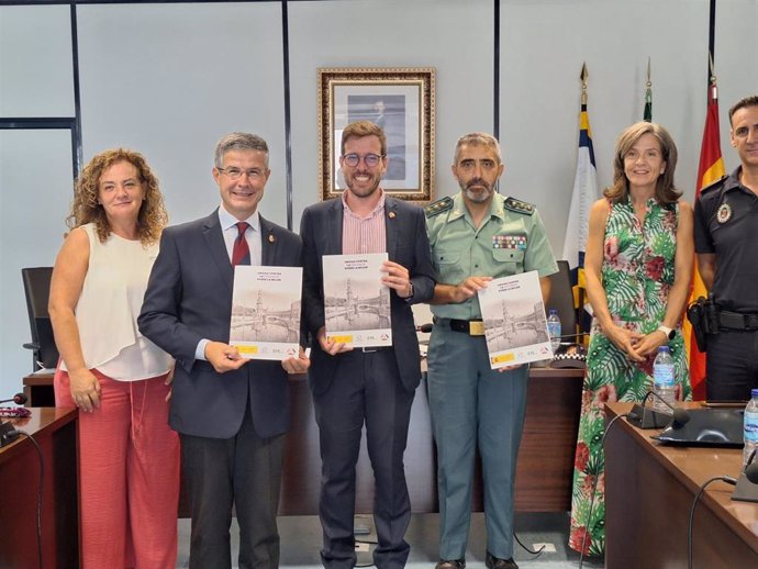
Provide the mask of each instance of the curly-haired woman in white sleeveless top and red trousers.
{"label": "curly-haired woman in white sleeveless top and red trousers", "polygon": [[83,569],[172,569],[179,442],[168,427],[171,358],[136,319],[168,219],[145,159],[99,154],[77,180],[49,313],[58,406],[79,408]]}

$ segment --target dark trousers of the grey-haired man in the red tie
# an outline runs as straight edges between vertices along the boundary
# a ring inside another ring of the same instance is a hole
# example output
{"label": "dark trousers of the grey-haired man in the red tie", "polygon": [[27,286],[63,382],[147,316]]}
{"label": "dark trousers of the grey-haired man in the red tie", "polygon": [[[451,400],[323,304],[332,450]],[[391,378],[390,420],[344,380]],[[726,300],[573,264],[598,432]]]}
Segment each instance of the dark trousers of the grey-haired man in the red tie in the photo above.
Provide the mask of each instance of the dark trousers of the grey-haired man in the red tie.
{"label": "dark trousers of the grey-haired man in the red tie", "polygon": [[260,438],[248,404],[234,437],[180,440],[192,515],[190,569],[231,569],[232,506],[239,523],[239,569],[278,568],[285,435]]}

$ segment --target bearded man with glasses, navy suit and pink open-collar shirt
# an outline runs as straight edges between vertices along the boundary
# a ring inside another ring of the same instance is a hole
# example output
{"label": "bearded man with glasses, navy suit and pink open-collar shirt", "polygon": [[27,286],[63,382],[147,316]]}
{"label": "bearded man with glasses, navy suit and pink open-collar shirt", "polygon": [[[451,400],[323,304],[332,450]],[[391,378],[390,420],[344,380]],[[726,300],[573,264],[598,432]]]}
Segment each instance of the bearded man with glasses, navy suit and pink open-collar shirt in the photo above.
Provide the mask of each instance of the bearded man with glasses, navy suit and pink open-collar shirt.
{"label": "bearded man with glasses, navy suit and pink open-collar shirt", "polygon": [[[343,131],[342,198],[303,212],[303,319],[312,342],[309,384],[319,424],[323,527],[321,557],[327,568],[356,564],[353,517],[355,467],[366,426],[374,468],[374,520],[379,569],[405,565],[411,518],[403,453],[415,389],[421,380],[419,342],[411,304],[434,294],[434,268],[421,208],[388,197],[379,187],[387,170],[387,138],[376,124]],[[387,253],[381,282],[391,289],[392,346],[355,348],[326,339],[324,255]]]}

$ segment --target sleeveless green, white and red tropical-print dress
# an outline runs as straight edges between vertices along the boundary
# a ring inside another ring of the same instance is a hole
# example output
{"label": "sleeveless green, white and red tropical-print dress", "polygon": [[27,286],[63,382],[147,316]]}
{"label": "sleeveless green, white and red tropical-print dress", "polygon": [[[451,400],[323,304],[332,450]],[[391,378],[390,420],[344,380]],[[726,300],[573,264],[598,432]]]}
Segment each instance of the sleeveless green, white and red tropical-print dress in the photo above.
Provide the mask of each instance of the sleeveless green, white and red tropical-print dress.
{"label": "sleeveless green, white and red tropical-print dress", "polygon": [[[661,205],[655,199],[646,204],[645,222],[634,213],[631,200],[610,203],[603,239],[603,289],[613,321],[623,327],[649,334],[666,314],[666,302],[673,286],[679,204]],[[690,399],[690,375],[681,334],[669,343],[675,361],[677,399]],[[584,555],[601,556],[605,550],[605,457],[601,439],[604,429],[603,405],[613,401],[639,402],[653,386],[653,360],[626,359],[592,321],[582,390],[581,416],[573,470],[571,532],[569,546]],[[592,487],[597,490],[592,512]]]}

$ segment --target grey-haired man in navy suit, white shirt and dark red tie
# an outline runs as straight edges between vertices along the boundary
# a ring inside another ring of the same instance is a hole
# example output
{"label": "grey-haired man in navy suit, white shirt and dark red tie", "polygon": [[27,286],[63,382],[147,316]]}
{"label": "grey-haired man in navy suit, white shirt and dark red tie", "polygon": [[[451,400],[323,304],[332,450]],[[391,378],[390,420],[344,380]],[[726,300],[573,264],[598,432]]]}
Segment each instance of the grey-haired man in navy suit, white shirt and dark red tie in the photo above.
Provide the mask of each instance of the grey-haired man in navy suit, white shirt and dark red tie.
{"label": "grey-haired man in navy suit, white shirt and dark red tie", "polygon": [[263,138],[233,133],[219,142],[221,207],[164,231],[137,321],[176,359],[169,423],[180,435],[190,499],[191,569],[231,568],[233,505],[239,568],[279,566],[287,373],[310,361],[302,349],[281,362],[250,361],[228,345],[233,263],[300,265],[300,238],[257,211],[269,175]]}

